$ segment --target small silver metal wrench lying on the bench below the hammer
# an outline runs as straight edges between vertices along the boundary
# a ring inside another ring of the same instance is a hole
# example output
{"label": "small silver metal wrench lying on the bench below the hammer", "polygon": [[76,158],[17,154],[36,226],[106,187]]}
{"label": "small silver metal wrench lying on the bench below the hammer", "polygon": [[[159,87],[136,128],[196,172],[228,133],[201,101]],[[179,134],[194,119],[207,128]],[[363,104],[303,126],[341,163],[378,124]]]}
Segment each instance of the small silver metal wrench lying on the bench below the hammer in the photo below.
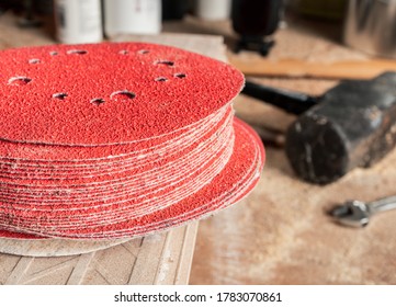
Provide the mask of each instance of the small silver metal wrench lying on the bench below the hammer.
{"label": "small silver metal wrench lying on the bench below the hammer", "polygon": [[347,201],[333,208],[330,214],[342,225],[350,227],[367,226],[370,218],[380,212],[396,208],[396,196],[385,197],[377,201],[364,203],[361,201]]}

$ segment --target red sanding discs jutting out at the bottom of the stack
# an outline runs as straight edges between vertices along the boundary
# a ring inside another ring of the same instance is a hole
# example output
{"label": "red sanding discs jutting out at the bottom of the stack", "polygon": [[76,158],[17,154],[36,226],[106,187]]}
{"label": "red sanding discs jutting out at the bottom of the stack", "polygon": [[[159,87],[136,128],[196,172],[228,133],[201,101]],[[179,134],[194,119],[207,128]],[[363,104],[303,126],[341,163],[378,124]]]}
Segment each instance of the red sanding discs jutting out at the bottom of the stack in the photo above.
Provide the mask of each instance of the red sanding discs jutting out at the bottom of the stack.
{"label": "red sanding discs jutting out at the bottom of the stack", "polygon": [[[265,155],[257,134],[241,121],[235,124],[235,147],[233,156],[223,171],[214,178],[211,184],[205,185],[197,193],[169,206],[139,218],[123,223],[108,224],[102,227],[77,229],[53,229],[39,236],[37,228],[23,229],[24,235],[18,232],[16,227],[3,226],[0,236],[10,238],[121,238],[145,236],[162,231],[171,227],[181,226],[192,219],[206,217],[213,212],[228,207],[246,196],[258,183],[264,164]],[[3,224],[3,221],[1,221]],[[16,231],[16,232],[15,232]],[[36,232],[34,236],[34,232]]]}

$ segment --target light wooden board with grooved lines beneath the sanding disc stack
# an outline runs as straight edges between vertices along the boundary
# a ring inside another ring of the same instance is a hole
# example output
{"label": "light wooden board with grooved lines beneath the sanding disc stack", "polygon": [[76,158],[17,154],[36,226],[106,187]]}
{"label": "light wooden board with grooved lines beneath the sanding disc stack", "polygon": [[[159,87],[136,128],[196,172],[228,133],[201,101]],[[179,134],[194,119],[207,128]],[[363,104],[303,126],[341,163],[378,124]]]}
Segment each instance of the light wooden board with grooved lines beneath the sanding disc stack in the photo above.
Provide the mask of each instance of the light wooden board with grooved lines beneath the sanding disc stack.
{"label": "light wooden board with grooved lines beneath the sanding disc stack", "polygon": [[197,223],[78,255],[0,253],[0,285],[186,284]]}

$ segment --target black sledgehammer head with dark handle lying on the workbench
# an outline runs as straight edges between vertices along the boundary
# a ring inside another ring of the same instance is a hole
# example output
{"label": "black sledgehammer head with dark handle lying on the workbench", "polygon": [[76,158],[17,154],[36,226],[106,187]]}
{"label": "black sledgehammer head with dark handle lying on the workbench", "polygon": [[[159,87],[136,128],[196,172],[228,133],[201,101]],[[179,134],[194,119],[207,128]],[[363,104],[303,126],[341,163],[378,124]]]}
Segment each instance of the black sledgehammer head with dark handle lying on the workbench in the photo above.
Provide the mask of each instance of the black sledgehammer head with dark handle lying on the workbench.
{"label": "black sledgehammer head with dark handle lying on the workbench", "polygon": [[302,179],[326,184],[373,166],[396,147],[395,88],[396,71],[341,81],[320,96],[252,82],[242,93],[301,114],[285,136],[288,161]]}

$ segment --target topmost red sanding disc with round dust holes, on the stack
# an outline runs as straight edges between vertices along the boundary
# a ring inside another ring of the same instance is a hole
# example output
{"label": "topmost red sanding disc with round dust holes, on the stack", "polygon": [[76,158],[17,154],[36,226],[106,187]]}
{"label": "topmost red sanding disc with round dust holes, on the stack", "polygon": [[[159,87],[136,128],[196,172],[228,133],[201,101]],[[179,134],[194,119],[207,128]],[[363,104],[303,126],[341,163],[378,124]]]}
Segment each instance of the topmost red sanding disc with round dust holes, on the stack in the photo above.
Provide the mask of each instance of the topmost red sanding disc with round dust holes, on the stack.
{"label": "topmost red sanding disc with round dust holes, on the stack", "polygon": [[229,103],[229,65],[145,43],[57,45],[0,53],[0,138],[98,146],[185,128]]}

